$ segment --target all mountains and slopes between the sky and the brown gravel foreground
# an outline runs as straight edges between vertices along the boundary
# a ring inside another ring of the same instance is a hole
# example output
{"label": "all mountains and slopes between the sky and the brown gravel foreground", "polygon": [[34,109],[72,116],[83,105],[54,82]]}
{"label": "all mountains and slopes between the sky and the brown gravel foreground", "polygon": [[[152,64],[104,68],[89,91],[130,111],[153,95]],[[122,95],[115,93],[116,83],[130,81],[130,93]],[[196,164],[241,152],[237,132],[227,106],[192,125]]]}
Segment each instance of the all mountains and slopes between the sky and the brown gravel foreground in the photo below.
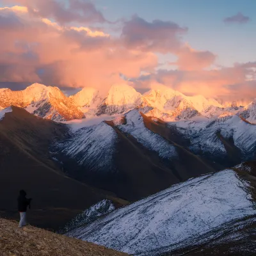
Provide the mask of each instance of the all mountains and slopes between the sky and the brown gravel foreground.
{"label": "all mountains and slopes between the sky and the brown gravel foreground", "polygon": [[26,189],[31,223],[122,252],[253,255],[254,102],[33,84],[0,106],[2,217]]}

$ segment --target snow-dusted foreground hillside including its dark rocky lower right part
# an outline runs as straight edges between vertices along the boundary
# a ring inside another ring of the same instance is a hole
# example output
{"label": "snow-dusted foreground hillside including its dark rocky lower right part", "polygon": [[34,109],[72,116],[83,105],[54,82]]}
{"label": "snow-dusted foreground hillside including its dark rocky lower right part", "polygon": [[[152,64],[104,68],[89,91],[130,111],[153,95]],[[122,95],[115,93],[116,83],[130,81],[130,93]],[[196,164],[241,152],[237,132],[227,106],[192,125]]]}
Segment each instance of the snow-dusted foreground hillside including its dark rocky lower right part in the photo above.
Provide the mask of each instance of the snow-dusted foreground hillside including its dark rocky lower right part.
{"label": "snow-dusted foreground hillside including its dark rocky lower right part", "polygon": [[255,180],[255,162],[202,175],[77,227],[68,236],[132,255],[208,255],[211,248],[221,252],[225,243],[231,246],[228,255],[253,255]]}

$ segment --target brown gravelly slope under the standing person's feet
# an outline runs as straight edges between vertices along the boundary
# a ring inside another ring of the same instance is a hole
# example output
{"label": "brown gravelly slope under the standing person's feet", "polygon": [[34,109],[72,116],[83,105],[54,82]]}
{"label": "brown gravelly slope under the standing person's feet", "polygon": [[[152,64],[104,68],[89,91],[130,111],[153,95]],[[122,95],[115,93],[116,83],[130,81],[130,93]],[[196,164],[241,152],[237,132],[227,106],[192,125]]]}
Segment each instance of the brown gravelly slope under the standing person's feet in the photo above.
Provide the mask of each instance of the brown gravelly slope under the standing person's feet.
{"label": "brown gravelly slope under the standing person's feet", "polygon": [[0,219],[0,256],[125,256],[97,244],[54,234],[44,229],[17,228],[17,222]]}

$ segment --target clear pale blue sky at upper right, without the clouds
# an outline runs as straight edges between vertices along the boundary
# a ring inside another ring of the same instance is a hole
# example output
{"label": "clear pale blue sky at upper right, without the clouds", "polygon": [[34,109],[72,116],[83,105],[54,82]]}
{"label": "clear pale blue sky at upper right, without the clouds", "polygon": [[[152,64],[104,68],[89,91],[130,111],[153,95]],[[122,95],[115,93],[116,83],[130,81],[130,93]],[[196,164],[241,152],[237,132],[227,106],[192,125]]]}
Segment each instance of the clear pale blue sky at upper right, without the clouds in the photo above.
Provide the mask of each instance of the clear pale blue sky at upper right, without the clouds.
{"label": "clear pale blue sky at upper right, without the clouds", "polygon": [[[112,21],[137,14],[147,21],[171,20],[186,26],[189,30],[184,40],[197,50],[217,54],[219,65],[256,59],[255,0],[95,0],[93,3]],[[223,22],[225,17],[238,12],[250,17],[250,21]]]}

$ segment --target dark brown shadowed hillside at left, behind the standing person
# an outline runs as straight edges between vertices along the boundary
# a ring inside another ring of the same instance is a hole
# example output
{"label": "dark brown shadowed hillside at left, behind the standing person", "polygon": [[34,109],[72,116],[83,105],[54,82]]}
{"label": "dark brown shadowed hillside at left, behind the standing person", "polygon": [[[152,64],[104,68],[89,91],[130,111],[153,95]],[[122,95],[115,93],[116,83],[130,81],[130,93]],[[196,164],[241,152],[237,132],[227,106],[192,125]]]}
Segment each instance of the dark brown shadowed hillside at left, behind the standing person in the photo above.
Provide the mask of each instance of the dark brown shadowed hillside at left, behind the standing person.
{"label": "dark brown shadowed hillside at left, behind the standing person", "polygon": [[65,125],[12,109],[0,121],[0,216],[19,218],[17,196],[25,189],[33,198],[30,223],[57,230],[108,197],[106,191],[66,177],[51,159],[49,145],[67,132]]}

